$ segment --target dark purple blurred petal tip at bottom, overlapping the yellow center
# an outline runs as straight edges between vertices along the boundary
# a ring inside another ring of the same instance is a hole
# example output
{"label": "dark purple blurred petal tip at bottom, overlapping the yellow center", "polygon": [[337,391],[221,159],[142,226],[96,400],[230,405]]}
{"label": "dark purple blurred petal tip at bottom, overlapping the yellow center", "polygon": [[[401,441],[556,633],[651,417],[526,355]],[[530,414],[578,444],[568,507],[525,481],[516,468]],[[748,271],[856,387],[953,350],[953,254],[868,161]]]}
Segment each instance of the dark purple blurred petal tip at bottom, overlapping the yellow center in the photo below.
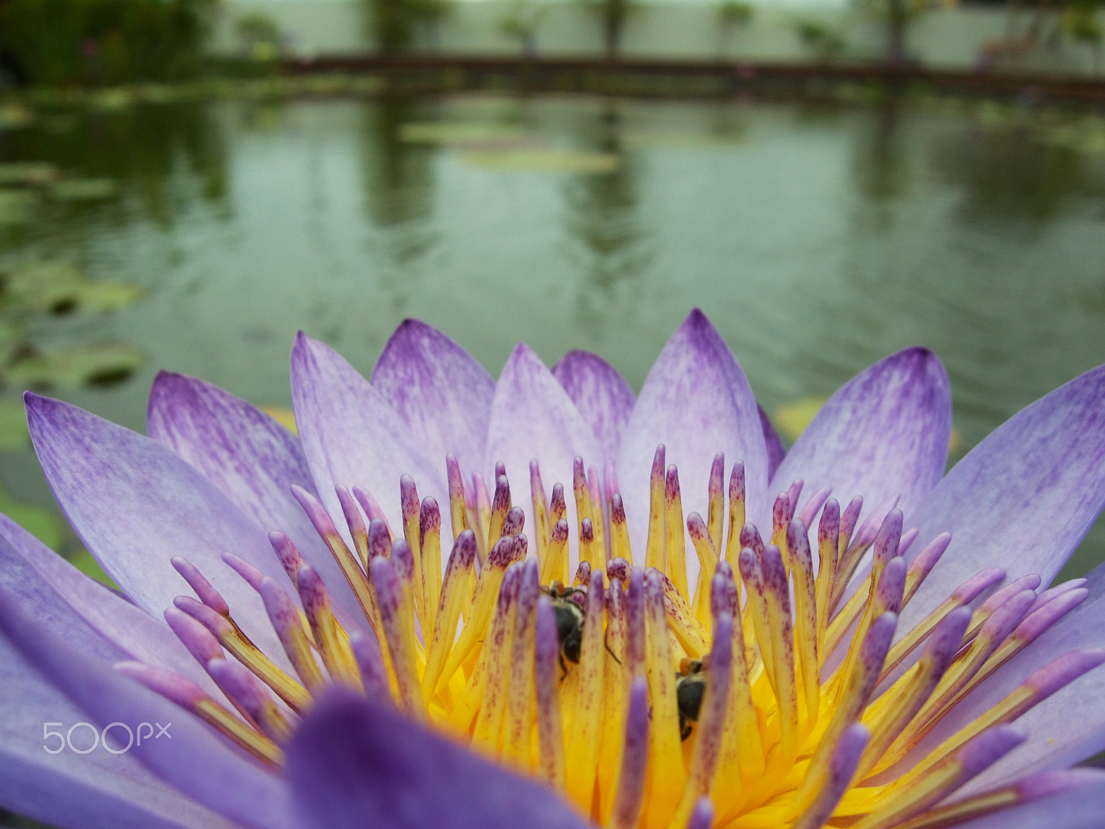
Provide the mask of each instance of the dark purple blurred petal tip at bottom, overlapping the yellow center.
{"label": "dark purple blurred petal tip at bottom, overlapping the yellow center", "polygon": [[550,789],[335,689],[288,746],[303,826],[317,829],[586,829]]}

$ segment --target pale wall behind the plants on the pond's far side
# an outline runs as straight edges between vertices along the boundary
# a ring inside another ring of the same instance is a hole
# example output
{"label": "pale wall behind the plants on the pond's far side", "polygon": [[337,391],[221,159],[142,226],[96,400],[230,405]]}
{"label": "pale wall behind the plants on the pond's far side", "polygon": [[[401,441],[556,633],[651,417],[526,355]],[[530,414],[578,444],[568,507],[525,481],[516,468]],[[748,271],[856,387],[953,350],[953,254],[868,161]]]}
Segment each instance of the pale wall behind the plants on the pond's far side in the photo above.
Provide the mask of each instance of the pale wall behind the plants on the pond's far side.
{"label": "pale wall behind the plants on the pond's far side", "polygon": [[[222,6],[212,49],[220,53],[236,48],[232,21],[261,11],[273,18],[291,36],[296,50],[306,54],[352,54],[370,48],[365,35],[365,0],[229,0]],[[800,3],[802,0],[791,0]],[[809,2],[809,0],[807,0]],[[751,23],[736,31],[724,44],[732,59],[798,61],[808,53],[794,33],[800,20],[819,19],[839,29],[848,43],[846,55],[873,57],[884,49],[882,27],[859,12],[834,6],[835,0],[813,4],[759,6]],[[448,53],[516,54],[516,41],[498,32],[509,0],[462,0],[436,35],[436,49]],[[722,53],[716,4],[703,0],[654,0],[630,19],[623,38],[623,54],[636,57],[713,59]],[[1028,25],[1028,19],[1021,27]],[[1006,33],[1001,9],[958,8],[933,11],[913,23],[909,53],[925,64],[945,69],[969,69],[978,60],[981,44]],[[423,38],[423,41],[425,39]],[[546,55],[597,54],[601,50],[598,22],[580,6],[552,2],[537,35],[538,52]],[[428,50],[423,42],[420,49]],[[1060,43],[1054,52],[1028,59],[1039,69],[1088,72],[1090,52]]]}

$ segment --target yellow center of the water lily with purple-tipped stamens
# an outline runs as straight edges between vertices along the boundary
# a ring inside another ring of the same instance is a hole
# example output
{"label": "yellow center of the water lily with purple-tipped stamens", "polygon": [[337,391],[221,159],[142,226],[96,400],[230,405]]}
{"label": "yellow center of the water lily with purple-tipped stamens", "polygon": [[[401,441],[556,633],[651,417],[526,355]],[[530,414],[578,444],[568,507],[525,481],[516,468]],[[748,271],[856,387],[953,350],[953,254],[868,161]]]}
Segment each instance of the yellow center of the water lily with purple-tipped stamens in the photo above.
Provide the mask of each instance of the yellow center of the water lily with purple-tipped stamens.
{"label": "yellow center of the water lily with purple-tipped stamens", "polygon": [[[576,459],[570,527],[565,487],[547,499],[533,461],[529,536],[502,464],[491,495],[478,474],[464,484],[452,455],[448,472],[454,538],[444,570],[439,506],[420,501],[410,478],[400,482],[398,534],[370,493],[337,487],[352,549],[322,503],[296,491],[375,637],[347,632],[318,574],[272,533],[302,609],[250,564],[224,560],[261,594],[292,672],[182,559],[173,564],[198,599],[178,597],[166,618],[238,715],[166,671],[120,670],[274,766],[314,696],[338,683],[546,781],[604,826],[682,828],[709,798],[717,827],[923,829],[1017,802],[1007,786],[938,806],[1015,747],[1021,737],[1004,726],[1101,661],[1061,657],[943,742],[922,744],[1085,591],[1038,596],[1040,579],[1028,576],[972,611],[1006,575],[983,570],[895,642],[897,615],[950,536],[907,566],[917,533],[903,533],[893,504],[860,524],[862,499],[841,510],[821,491],[803,503],[797,481],[776,499],[765,542],[746,523],[741,462],[726,491],[718,454],[705,518],[684,520],[678,473],[660,447],[648,537],[634,550],[610,470],[600,480]],[[808,527],[819,515],[813,547]]]}

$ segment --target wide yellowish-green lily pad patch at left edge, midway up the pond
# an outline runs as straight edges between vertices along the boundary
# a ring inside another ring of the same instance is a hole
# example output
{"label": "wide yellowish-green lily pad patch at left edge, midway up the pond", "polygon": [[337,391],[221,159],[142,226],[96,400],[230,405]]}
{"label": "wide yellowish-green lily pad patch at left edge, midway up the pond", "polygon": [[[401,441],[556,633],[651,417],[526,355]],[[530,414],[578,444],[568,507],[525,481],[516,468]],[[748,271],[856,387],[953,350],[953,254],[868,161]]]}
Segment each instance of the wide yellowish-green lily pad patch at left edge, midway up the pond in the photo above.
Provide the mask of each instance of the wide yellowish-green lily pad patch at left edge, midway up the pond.
{"label": "wide yellowish-green lily pad patch at left edge, midway up the pond", "polygon": [[125,308],[141,297],[141,288],[135,285],[92,281],[70,264],[28,262],[3,281],[0,307],[51,314],[107,312]]}

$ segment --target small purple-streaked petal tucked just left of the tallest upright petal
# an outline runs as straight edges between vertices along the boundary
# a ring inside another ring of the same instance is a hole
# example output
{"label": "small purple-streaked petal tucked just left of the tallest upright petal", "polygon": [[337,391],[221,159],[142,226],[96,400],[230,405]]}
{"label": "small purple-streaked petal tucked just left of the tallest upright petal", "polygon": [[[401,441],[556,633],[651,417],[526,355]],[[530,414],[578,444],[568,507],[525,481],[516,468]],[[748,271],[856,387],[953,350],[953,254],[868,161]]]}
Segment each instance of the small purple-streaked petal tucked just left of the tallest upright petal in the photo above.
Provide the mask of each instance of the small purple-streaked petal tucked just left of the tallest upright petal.
{"label": "small purple-streaked petal tucked just left of the tallest upright petal", "polygon": [[[618,369],[597,354],[568,351],[552,366],[552,376],[576,403],[580,417],[591,427],[602,450],[603,461],[618,460],[629,413],[633,409],[633,389]],[[587,459],[599,465],[599,459]]]}

